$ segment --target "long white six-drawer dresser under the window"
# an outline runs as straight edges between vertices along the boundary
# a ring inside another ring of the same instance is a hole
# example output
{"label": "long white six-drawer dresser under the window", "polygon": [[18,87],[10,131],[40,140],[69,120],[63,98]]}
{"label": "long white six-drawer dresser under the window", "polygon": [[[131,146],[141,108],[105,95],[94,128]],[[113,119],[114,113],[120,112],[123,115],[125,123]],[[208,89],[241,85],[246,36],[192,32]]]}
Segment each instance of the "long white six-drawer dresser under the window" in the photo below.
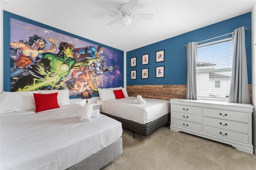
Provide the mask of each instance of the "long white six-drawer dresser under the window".
{"label": "long white six-drawer dresser under the window", "polygon": [[253,154],[250,104],[170,99],[170,130],[232,145]]}

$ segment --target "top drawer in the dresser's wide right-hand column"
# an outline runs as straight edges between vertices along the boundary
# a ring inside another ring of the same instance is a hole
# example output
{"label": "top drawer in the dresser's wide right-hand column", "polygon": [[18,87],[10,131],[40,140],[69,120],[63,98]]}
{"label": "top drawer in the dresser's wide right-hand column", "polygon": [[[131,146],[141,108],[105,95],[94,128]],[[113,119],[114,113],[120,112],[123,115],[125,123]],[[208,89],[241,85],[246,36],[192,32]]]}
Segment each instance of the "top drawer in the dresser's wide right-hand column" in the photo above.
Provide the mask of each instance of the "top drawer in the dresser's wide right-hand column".
{"label": "top drawer in the dresser's wide right-hand column", "polygon": [[204,108],[204,116],[248,122],[248,113]]}

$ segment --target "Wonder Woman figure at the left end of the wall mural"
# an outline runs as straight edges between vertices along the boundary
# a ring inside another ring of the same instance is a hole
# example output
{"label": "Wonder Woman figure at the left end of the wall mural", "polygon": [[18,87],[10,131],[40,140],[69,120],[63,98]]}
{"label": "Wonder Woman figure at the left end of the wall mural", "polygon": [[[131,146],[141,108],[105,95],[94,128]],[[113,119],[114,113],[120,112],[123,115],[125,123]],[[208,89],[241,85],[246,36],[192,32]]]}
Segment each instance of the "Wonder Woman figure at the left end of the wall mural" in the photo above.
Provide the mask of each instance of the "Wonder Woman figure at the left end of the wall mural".
{"label": "Wonder Woman figure at the left end of the wall mural", "polygon": [[33,58],[38,56],[42,52],[55,52],[56,45],[54,40],[48,38],[51,42],[50,49],[45,49],[46,40],[37,35],[29,37],[29,40],[24,42],[10,42],[10,54],[11,54],[11,78],[22,74],[25,71],[27,65],[31,64]]}

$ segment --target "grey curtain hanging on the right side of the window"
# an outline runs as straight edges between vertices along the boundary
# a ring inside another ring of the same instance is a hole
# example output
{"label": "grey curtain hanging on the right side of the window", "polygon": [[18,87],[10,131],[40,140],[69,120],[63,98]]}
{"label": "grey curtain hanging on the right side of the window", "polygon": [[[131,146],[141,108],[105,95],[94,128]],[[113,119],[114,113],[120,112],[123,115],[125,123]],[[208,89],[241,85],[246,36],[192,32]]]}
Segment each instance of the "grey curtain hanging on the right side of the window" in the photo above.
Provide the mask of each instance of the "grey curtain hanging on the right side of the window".
{"label": "grey curtain hanging on the right side of the window", "polygon": [[244,27],[237,28],[232,34],[233,62],[228,98],[230,103],[250,103],[244,34]]}

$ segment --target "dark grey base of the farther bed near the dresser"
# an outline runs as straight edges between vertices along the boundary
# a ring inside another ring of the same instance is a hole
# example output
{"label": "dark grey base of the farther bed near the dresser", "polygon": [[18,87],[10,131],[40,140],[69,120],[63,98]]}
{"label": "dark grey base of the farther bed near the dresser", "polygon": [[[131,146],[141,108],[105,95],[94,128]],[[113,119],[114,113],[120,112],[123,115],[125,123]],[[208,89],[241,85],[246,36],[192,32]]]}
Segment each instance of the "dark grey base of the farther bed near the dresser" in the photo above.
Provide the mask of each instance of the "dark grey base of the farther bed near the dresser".
{"label": "dark grey base of the farther bed near the dresser", "polygon": [[113,115],[109,115],[107,113],[101,112],[103,115],[106,115],[108,117],[111,117],[113,119],[116,119],[117,121],[122,123],[122,127],[126,128],[128,130],[131,130],[133,133],[133,137],[135,138],[135,133],[141,134],[143,136],[148,136],[152,134],[154,131],[156,131],[158,128],[163,127],[168,122],[170,122],[170,113],[150,122],[146,123],[145,125],[142,125],[140,123],[136,123],[134,121],[130,121],[127,119],[123,119],[120,117],[116,117]]}

